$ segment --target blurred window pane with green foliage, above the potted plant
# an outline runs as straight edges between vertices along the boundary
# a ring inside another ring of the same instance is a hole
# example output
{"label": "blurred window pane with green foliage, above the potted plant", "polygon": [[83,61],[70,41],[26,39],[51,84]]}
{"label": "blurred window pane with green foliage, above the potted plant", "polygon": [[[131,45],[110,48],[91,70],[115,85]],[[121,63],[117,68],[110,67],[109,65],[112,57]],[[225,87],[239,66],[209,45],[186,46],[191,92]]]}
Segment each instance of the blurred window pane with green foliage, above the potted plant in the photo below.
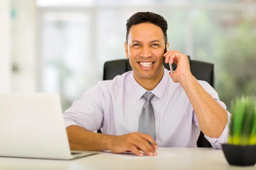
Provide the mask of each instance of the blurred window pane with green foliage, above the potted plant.
{"label": "blurred window pane with green foliage, above the potted plant", "polygon": [[215,64],[215,87],[229,106],[256,94],[256,10],[193,12],[194,58]]}

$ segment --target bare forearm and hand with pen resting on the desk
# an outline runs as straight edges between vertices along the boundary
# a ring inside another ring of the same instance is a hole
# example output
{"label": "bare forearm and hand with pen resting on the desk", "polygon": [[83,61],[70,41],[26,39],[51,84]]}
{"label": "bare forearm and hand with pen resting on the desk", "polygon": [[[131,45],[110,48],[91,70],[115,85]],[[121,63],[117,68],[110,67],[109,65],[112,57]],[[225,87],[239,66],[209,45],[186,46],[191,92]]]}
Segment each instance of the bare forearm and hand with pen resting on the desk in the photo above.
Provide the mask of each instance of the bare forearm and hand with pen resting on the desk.
{"label": "bare forearm and hand with pen resting on the desk", "polygon": [[121,136],[105,135],[72,125],[67,127],[67,135],[71,150],[111,150],[113,153],[132,151],[137,156],[143,156],[139,151],[143,150],[148,156],[157,155],[153,148],[157,149],[155,142],[152,144],[153,147],[148,144],[148,141],[154,140],[143,133],[129,133]]}

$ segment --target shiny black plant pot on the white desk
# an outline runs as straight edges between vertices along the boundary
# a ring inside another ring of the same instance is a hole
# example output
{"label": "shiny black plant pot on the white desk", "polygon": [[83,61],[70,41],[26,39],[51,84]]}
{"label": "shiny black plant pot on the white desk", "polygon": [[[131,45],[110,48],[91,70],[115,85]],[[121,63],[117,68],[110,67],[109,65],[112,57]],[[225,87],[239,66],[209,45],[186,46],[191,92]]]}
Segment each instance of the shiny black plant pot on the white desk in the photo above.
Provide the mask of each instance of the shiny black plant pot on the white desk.
{"label": "shiny black plant pot on the white desk", "polygon": [[222,144],[222,150],[231,165],[253,166],[256,164],[256,145]]}

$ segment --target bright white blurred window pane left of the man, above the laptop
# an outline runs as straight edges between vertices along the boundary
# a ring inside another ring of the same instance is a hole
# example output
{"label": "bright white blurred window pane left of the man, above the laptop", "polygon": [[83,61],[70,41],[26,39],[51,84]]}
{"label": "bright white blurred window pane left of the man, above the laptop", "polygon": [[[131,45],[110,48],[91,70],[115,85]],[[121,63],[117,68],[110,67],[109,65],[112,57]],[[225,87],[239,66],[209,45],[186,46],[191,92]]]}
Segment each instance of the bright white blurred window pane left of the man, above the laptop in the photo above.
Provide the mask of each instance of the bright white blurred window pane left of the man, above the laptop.
{"label": "bright white blurred window pane left of the man, above the laptop", "polygon": [[89,20],[86,13],[42,16],[41,90],[60,94],[64,109],[89,88]]}

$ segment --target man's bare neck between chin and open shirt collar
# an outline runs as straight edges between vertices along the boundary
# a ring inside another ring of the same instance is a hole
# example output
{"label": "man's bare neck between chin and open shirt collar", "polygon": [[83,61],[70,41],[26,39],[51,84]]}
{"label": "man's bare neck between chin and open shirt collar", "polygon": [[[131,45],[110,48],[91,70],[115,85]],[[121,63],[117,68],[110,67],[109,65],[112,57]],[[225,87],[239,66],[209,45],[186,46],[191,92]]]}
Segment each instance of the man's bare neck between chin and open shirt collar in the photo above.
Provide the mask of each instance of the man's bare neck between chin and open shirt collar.
{"label": "man's bare neck between chin and open shirt collar", "polygon": [[160,73],[157,74],[156,77],[152,77],[150,79],[143,79],[138,76],[135,76],[134,72],[133,72],[133,76],[134,76],[134,79],[136,80],[136,82],[139,83],[139,85],[141,85],[147,91],[152,91],[155,87],[157,87],[157,85],[163,78],[163,69],[161,69],[159,72]]}

